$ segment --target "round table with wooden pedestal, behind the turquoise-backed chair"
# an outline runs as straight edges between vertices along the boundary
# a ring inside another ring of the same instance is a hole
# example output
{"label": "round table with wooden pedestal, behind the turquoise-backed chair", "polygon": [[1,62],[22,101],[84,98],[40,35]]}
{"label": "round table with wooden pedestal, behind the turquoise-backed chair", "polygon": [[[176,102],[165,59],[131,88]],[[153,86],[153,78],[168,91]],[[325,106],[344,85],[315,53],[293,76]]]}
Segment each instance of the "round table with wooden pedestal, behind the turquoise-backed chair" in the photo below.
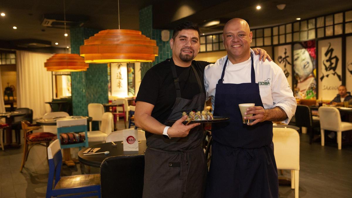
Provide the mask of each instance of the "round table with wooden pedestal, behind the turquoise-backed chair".
{"label": "round table with wooden pedestal, behind the turquoise-backed chair", "polygon": [[[36,123],[39,125],[54,126],[56,125],[57,120],[74,120],[74,119],[80,119],[80,118],[87,118],[87,122],[92,122],[92,119],[93,119],[92,117],[88,117],[88,116],[65,116],[65,117],[52,117],[52,118],[46,118],[46,119],[38,119],[36,120]],[[71,158],[70,148],[64,148],[62,162],[65,163],[67,166],[75,166],[75,162],[78,162],[78,160]]]}

